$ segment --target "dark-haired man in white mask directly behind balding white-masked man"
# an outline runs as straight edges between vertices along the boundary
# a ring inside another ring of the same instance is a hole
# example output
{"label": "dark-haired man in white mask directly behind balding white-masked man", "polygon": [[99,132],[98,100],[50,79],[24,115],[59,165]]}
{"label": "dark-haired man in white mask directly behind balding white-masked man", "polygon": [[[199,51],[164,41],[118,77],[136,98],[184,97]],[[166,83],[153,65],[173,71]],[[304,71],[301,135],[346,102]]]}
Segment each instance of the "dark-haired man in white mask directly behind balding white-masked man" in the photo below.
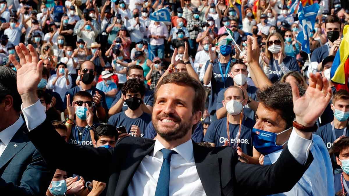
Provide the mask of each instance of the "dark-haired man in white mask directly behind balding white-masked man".
{"label": "dark-haired man in white mask directly behind balding white-masked man", "polygon": [[[244,114],[250,118],[254,119],[254,112],[257,110],[258,102],[257,100],[257,88],[255,86],[250,86],[247,84],[247,66],[242,62],[242,59],[237,59],[231,63],[231,69],[229,76],[233,78],[234,85],[243,90],[244,96],[247,99],[247,104],[244,105]],[[229,88],[229,87],[228,87]],[[222,119],[227,116],[227,109],[223,107],[224,92],[228,89],[222,89],[218,92],[217,96],[217,119]]]}

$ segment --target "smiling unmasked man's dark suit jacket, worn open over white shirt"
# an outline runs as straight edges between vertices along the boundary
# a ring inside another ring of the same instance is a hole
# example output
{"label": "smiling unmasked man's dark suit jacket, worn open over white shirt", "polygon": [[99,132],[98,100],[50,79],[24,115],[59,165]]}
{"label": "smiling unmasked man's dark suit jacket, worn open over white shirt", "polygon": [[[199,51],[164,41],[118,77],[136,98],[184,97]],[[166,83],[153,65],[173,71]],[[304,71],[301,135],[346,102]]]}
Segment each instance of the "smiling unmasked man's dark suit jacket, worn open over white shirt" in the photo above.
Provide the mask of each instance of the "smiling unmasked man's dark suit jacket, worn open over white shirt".
{"label": "smiling unmasked man's dark suit jacket, worn open over white shirt", "polygon": [[[125,137],[118,141],[113,150],[73,146],[67,144],[47,121],[28,135],[48,164],[107,182],[109,196],[127,195],[127,187],[134,173],[142,159],[153,152],[155,143],[145,138]],[[208,196],[286,192],[297,183],[313,160],[309,152],[306,164],[301,165],[288,148],[273,165],[242,163],[230,147],[205,148],[193,142],[193,151],[196,169]],[[89,163],[84,163],[84,160],[89,160]],[[141,184],[139,188],[142,188]]]}

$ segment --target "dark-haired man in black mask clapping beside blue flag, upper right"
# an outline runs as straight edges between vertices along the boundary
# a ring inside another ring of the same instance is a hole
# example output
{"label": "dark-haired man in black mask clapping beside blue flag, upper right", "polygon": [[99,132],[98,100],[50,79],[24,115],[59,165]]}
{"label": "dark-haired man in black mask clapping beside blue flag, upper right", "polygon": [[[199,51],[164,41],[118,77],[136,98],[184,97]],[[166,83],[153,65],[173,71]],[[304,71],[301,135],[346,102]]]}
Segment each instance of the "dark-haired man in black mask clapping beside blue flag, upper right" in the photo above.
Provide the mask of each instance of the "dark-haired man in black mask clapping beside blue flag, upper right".
{"label": "dark-haired man in black mask clapping beside blue flag, upper right", "polygon": [[[316,48],[311,54],[311,62],[321,63],[329,55],[336,55],[341,43],[340,31],[342,22],[337,16],[329,15],[325,20],[325,34],[328,42]],[[318,66],[319,67],[319,66]]]}

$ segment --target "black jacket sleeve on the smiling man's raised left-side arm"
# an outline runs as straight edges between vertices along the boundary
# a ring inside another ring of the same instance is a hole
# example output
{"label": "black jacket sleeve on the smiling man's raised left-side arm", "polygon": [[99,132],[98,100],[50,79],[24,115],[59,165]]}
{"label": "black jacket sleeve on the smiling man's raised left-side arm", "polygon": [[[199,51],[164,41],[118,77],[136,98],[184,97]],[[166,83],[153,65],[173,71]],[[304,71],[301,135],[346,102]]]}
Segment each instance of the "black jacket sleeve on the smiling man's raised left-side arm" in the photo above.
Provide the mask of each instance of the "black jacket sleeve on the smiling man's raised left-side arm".
{"label": "black jacket sleeve on the smiling man's raised left-side arm", "polygon": [[28,137],[51,167],[97,181],[107,182],[109,179],[113,156],[111,149],[68,144],[47,120],[29,131]]}

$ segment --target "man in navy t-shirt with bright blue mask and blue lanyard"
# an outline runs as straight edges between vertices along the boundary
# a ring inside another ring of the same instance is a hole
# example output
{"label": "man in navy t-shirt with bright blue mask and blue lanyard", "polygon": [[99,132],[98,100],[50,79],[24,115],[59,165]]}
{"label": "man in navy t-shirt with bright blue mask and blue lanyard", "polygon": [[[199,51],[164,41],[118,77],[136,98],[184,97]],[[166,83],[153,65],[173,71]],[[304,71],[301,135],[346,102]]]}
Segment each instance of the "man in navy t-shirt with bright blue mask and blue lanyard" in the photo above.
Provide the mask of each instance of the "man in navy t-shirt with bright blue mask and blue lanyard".
{"label": "man in navy t-shirt with bright blue mask and blue lanyard", "polygon": [[208,85],[211,82],[211,95],[208,103],[211,122],[217,120],[215,113],[218,92],[234,84],[233,78],[229,77],[232,46],[231,42],[227,43],[224,40],[227,36],[228,34],[224,33],[217,38],[215,48],[215,51],[219,53],[217,59],[215,52],[211,51],[211,47],[209,47],[210,60],[205,65],[203,83]]}

